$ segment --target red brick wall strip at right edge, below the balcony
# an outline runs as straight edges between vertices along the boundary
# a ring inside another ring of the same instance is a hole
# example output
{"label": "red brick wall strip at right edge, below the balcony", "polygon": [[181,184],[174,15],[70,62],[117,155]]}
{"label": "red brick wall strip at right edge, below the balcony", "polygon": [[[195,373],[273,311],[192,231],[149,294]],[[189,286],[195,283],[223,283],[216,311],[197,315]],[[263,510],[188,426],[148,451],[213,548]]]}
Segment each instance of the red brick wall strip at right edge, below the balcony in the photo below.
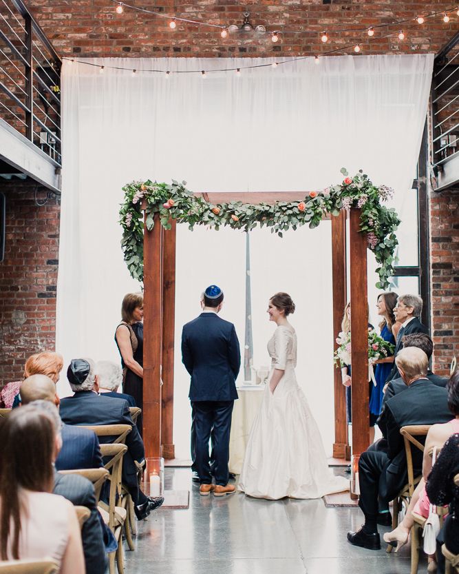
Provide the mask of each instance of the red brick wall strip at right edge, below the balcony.
{"label": "red brick wall strip at right edge, below the balcony", "polygon": [[431,331],[434,371],[459,359],[459,193],[431,194]]}

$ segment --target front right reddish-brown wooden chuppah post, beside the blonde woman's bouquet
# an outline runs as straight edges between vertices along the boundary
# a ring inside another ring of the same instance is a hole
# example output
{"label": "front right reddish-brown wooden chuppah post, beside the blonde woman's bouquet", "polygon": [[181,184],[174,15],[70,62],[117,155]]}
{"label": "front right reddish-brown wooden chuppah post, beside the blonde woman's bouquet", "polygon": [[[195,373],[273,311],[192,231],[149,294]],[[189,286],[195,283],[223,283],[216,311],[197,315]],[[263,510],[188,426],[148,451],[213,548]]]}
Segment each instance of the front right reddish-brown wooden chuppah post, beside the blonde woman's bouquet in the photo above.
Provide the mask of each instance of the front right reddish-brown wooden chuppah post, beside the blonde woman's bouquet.
{"label": "front right reddish-brown wooden chuppah post, beside the blonde woman's bouquet", "polygon": [[350,210],[352,455],[360,455],[370,443],[367,236],[359,231],[360,216],[360,209]]}

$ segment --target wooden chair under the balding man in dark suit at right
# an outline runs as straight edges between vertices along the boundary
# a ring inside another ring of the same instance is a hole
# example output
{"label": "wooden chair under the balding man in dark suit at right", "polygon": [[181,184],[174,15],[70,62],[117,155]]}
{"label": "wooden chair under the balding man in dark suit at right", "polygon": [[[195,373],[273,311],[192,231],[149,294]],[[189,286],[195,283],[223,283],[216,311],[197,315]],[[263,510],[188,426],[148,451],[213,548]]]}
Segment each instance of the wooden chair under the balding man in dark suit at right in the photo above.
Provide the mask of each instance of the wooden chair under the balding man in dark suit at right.
{"label": "wooden chair under the balding man in dark suit at right", "polygon": [[[401,511],[402,505],[405,504],[406,508],[409,505],[409,501],[412,498],[414,493],[414,489],[416,485],[421,479],[421,475],[414,476],[414,469],[413,469],[413,454],[412,454],[412,445],[419,449],[422,453],[424,452],[424,444],[419,442],[415,437],[416,436],[423,436],[424,438],[427,436],[431,425],[430,424],[410,424],[407,427],[402,427],[400,429],[400,433],[403,436],[403,442],[405,443],[405,456],[407,460],[407,471],[408,471],[408,482],[403,486],[403,489],[396,495],[394,498],[393,504],[393,514],[392,514],[392,530],[396,529],[398,526],[398,513]],[[394,546],[392,544],[387,544],[386,552],[392,552]],[[413,560],[413,543],[412,543],[412,560]],[[418,555],[416,550],[416,556]],[[413,562],[412,562],[413,568]],[[417,571],[417,566],[416,566]],[[415,571],[415,572],[416,572]],[[412,570],[413,572],[413,570]]]}

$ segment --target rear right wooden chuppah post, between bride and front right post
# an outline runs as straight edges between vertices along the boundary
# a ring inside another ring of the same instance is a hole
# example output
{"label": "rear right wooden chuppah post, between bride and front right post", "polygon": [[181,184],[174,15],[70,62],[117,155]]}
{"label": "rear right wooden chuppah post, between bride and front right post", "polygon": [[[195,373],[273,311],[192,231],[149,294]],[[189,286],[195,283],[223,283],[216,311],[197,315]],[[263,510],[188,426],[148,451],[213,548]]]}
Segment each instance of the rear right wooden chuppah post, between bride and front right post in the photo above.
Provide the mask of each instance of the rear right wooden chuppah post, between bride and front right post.
{"label": "rear right wooden chuppah post, between bride and front right post", "polygon": [[[332,217],[333,343],[341,331],[341,319],[347,301],[346,283],[346,212],[341,209]],[[334,458],[350,460],[346,391],[341,382],[341,369],[334,367]]]}

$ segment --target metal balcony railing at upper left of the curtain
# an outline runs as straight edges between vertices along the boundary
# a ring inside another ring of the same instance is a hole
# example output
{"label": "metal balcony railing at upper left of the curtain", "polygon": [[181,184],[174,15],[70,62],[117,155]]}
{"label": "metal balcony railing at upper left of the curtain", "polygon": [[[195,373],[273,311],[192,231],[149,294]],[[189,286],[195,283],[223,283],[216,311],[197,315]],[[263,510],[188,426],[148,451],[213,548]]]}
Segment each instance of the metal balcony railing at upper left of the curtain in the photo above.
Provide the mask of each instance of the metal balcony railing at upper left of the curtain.
{"label": "metal balcony railing at upper left of the curtain", "polygon": [[0,0],[0,118],[61,165],[61,58],[22,0]]}

